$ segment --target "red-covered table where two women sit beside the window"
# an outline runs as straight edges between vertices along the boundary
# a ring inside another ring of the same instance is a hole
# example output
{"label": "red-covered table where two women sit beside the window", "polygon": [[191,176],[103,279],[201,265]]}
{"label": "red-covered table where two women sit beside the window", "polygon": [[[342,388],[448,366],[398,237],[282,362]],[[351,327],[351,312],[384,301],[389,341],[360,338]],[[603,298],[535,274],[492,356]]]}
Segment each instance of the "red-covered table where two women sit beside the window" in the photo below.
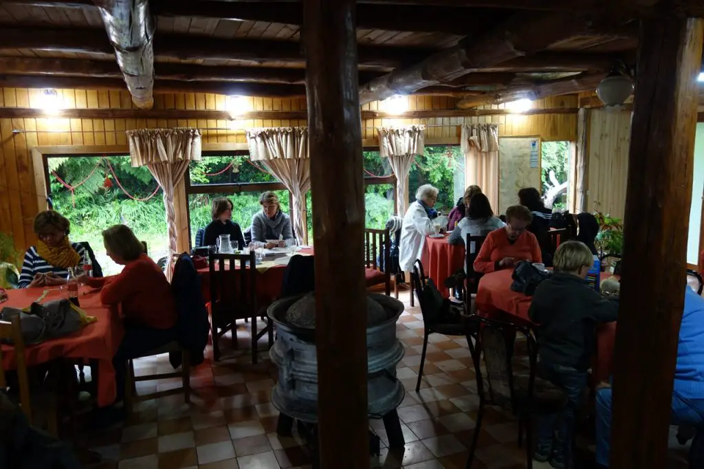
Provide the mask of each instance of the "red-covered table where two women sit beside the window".
{"label": "red-covered table where two women sit beside the window", "polygon": [[[291,256],[313,256],[312,247],[300,247],[295,252],[275,253],[274,256],[265,256],[261,263],[256,265],[256,295],[259,306],[273,303],[281,296],[281,289],[284,283],[284,273],[289,264]],[[229,267],[229,265],[227,265]],[[216,265],[217,268],[217,265]],[[239,270],[239,263],[235,268]],[[210,301],[210,268],[208,265],[197,268],[201,275],[201,294],[204,301]],[[237,280],[234,280],[237,281]]]}

